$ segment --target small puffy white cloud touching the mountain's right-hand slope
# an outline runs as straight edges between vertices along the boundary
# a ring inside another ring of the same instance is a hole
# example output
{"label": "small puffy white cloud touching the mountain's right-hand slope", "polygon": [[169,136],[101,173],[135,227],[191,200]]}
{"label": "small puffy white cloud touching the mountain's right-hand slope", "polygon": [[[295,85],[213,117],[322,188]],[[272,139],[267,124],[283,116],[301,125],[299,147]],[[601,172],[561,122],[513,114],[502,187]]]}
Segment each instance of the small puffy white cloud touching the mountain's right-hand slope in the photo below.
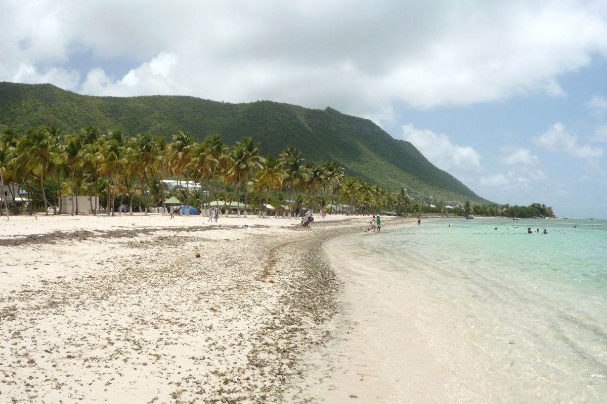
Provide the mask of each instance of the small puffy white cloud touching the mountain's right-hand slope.
{"label": "small puffy white cloud touching the mountain's right-hand slope", "polygon": [[436,167],[447,171],[478,171],[481,155],[470,146],[453,144],[449,136],[402,125],[402,139],[411,142]]}

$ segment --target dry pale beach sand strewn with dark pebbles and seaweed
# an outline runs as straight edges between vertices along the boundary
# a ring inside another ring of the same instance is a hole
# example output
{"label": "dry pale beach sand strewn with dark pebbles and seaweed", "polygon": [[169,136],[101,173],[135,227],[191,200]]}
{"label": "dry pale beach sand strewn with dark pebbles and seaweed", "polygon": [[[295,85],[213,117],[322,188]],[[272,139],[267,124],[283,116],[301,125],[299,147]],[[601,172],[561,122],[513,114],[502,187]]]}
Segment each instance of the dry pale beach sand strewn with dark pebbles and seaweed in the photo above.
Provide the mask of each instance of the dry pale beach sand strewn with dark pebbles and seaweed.
{"label": "dry pale beach sand strewn with dark pebbles and seaweed", "polygon": [[321,246],[368,218],[0,220],[0,402],[324,401],[342,281]]}

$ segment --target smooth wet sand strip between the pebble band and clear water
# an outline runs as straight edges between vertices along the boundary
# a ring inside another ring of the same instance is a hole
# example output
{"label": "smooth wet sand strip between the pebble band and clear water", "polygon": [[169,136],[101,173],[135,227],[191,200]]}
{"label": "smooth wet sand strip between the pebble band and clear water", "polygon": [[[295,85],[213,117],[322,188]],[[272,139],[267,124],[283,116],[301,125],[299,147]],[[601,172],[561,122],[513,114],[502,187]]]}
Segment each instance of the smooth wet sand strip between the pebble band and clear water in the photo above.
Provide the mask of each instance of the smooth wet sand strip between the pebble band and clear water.
{"label": "smooth wet sand strip between the pebble band and clear water", "polygon": [[[414,224],[410,218],[397,225]],[[323,246],[344,286],[324,353],[333,365],[315,375],[322,382],[313,396],[332,404],[449,402],[445,369],[406,310],[418,302],[401,306],[392,274],[373,271],[362,256],[348,256],[356,237],[334,237]]]}

